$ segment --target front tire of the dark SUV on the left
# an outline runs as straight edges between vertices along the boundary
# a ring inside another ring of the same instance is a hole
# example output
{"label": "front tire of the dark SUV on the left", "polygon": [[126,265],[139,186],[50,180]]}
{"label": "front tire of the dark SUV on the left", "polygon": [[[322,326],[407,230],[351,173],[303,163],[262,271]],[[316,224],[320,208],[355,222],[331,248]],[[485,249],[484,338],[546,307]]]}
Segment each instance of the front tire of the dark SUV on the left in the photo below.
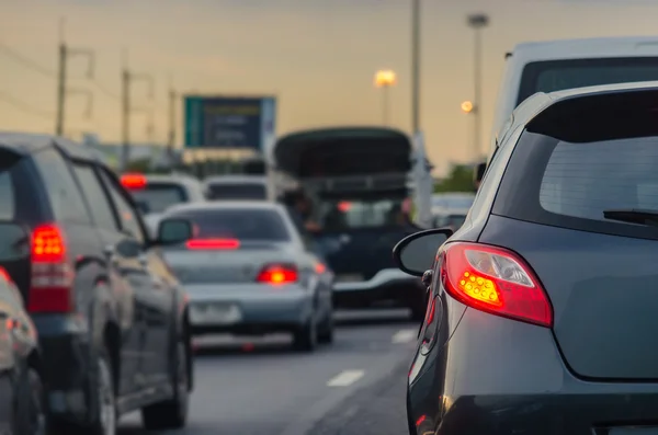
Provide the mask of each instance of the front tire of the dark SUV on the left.
{"label": "front tire of the dark SUV on the left", "polygon": [[188,423],[190,410],[190,379],[188,346],[183,337],[175,344],[172,368],[173,398],[141,409],[141,422],[147,431],[175,430]]}

